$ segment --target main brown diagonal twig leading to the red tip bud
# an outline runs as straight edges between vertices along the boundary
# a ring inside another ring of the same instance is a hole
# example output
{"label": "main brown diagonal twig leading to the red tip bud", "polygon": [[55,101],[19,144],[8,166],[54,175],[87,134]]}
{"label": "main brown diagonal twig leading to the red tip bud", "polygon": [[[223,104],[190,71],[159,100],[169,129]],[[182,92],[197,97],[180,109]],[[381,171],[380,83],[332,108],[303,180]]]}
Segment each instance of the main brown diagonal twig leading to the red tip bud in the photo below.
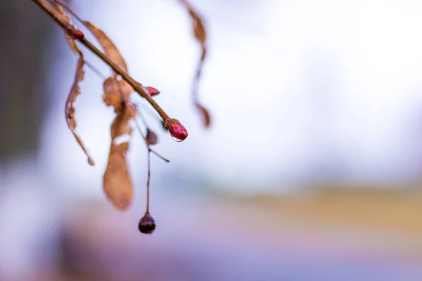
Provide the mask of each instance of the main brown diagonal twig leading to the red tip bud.
{"label": "main brown diagonal twig leading to the red tip bud", "polygon": [[[60,15],[60,13],[58,13],[58,11],[56,11],[53,7],[51,7],[51,5],[47,4],[46,1],[44,1],[44,0],[32,0],[32,1],[35,4],[37,4],[43,11],[45,11],[65,31],[68,32],[69,30],[75,29],[75,27],[70,25],[70,23],[67,22]],[[75,39],[75,40],[78,40],[79,42],[81,42],[85,47],[87,47],[89,49],[89,51],[94,53],[98,58],[103,60],[104,63],[106,63],[108,66],[110,66],[111,69],[113,69],[114,72],[119,74],[122,77],[122,79],[124,79],[124,81],[127,81],[127,83],[130,86],[132,86],[132,88],[134,89],[134,91],[136,91],[136,93],[139,93],[139,96],[148,100],[148,103],[150,103],[151,106],[154,107],[154,109],[158,112],[158,114],[160,115],[160,117],[162,118],[163,121],[167,121],[168,119],[170,119],[169,115],[167,115],[167,113],[165,113],[165,111],[162,110],[160,105],[158,105],[158,103],[156,103],[155,100],[153,100],[153,98],[148,94],[146,89],[143,88],[141,83],[137,82],[135,79],[130,77],[129,74],[127,74],[127,72],[125,72],[118,65],[116,65],[113,62],[113,60],[110,60],[110,58],[108,58],[107,55],[105,55],[98,48],[96,48],[96,46],[94,46],[94,44],[92,44],[88,39],[83,38],[83,39]]]}

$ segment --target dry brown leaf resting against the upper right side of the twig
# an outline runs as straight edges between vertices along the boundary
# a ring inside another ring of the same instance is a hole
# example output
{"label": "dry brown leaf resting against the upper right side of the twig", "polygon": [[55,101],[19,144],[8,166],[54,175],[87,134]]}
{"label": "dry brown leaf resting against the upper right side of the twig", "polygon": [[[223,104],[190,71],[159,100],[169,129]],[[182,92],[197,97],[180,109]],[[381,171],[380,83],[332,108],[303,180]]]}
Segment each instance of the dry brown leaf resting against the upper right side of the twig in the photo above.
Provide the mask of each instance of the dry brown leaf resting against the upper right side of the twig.
{"label": "dry brown leaf resting against the upper right side of the twig", "polygon": [[110,38],[108,38],[108,36],[103,32],[103,30],[100,30],[98,27],[87,20],[84,21],[84,25],[89,29],[89,31],[91,31],[92,34],[94,34],[94,37],[97,39],[101,47],[103,47],[108,58],[110,58],[110,60],[112,60],[113,63],[118,65],[120,68],[122,68],[124,72],[127,72],[127,65],[124,62],[120,51],[117,49],[113,41],[111,41]]}

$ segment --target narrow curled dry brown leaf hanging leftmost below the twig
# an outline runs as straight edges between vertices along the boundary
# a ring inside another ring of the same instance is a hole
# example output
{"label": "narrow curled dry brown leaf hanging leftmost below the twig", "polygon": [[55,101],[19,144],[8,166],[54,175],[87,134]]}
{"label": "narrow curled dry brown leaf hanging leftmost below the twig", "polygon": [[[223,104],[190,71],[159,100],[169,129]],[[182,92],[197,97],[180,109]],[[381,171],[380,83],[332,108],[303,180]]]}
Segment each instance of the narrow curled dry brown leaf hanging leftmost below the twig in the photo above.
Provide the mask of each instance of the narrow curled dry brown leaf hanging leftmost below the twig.
{"label": "narrow curled dry brown leaf hanging leftmost below the twig", "polygon": [[70,131],[72,131],[73,136],[75,136],[77,143],[79,143],[82,150],[84,150],[85,155],[88,157],[88,163],[91,166],[94,166],[94,159],[92,159],[91,155],[89,155],[89,152],[87,148],[85,148],[84,143],[82,143],[81,138],[76,133],[76,120],[75,120],[75,101],[79,94],[81,93],[81,89],[79,87],[79,82],[84,79],[84,58],[82,55],[79,57],[79,60],[77,61],[77,70],[75,74],[75,81],[73,82],[72,89],[70,89],[70,93],[68,95],[68,99],[66,100],[65,105],[65,117],[66,121],[68,122],[68,127]]}

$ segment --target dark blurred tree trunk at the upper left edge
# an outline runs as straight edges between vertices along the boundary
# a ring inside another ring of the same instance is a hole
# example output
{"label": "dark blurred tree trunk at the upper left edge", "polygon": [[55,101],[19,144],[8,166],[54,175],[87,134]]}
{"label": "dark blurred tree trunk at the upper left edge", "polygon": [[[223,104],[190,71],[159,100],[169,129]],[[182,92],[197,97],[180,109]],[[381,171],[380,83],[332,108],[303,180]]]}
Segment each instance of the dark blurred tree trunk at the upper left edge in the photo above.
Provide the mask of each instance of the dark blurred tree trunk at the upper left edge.
{"label": "dark blurred tree trunk at the upper left edge", "polygon": [[46,108],[53,25],[27,0],[0,1],[0,161],[33,155]]}

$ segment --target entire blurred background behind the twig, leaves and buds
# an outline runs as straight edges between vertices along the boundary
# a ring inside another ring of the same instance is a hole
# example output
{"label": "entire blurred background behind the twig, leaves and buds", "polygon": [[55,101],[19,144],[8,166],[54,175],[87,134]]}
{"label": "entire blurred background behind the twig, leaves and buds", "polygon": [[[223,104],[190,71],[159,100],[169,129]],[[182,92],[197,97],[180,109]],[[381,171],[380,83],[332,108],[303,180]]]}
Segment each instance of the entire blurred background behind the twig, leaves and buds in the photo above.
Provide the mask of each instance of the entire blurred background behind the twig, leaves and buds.
{"label": "entire blurred background behind the twig, leaves and buds", "polygon": [[171,159],[152,158],[158,226],[142,235],[141,136],[120,212],[101,186],[114,115],[103,77],[87,69],[75,105],[91,167],[63,114],[77,57],[32,1],[0,1],[0,281],[421,280],[422,2],[191,4],[209,35],[209,130],[177,1],[70,1],[189,132],[172,141],[133,96]]}

